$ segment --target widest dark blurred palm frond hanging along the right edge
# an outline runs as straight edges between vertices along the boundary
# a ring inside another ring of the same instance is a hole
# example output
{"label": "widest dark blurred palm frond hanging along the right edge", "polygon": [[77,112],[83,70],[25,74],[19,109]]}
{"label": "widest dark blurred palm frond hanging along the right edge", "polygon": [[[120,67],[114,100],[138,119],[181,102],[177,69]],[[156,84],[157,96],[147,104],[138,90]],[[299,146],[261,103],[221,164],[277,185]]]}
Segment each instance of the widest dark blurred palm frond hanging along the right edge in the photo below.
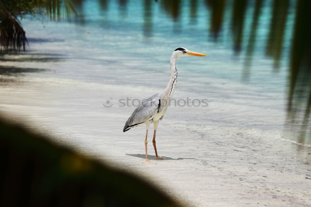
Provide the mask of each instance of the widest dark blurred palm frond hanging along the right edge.
{"label": "widest dark blurred palm frond hanging along the right edge", "polygon": [[[290,58],[288,118],[301,122],[303,131],[311,131],[311,1],[299,0]],[[303,118],[302,118],[303,117]]]}

